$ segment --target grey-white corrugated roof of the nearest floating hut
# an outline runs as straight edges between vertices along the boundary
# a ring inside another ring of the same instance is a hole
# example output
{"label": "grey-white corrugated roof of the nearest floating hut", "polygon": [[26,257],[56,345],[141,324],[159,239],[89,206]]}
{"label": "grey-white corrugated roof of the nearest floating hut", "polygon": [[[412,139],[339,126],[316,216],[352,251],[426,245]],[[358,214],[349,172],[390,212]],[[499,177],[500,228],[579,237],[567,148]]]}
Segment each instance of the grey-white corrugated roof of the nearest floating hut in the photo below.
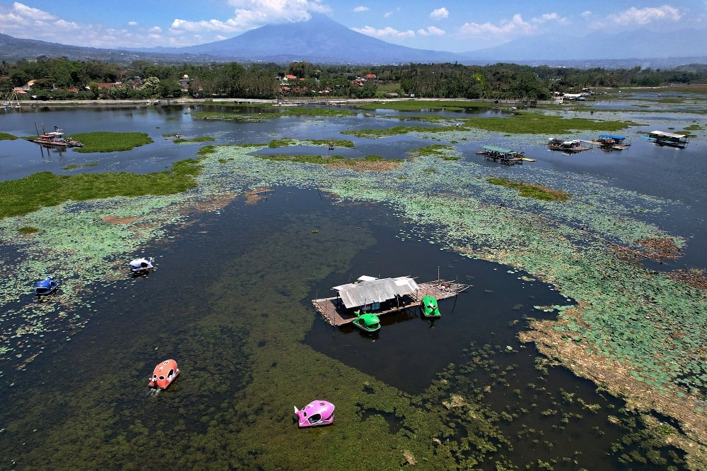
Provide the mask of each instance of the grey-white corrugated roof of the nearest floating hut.
{"label": "grey-white corrugated roof of the nearest floating hut", "polygon": [[[374,302],[384,302],[395,299],[396,296],[412,294],[419,290],[417,282],[409,276],[398,278],[361,277],[363,281],[334,286],[332,290],[339,292],[341,301],[347,309],[365,306]],[[359,278],[359,280],[361,280]],[[373,278],[373,279],[369,279]]]}

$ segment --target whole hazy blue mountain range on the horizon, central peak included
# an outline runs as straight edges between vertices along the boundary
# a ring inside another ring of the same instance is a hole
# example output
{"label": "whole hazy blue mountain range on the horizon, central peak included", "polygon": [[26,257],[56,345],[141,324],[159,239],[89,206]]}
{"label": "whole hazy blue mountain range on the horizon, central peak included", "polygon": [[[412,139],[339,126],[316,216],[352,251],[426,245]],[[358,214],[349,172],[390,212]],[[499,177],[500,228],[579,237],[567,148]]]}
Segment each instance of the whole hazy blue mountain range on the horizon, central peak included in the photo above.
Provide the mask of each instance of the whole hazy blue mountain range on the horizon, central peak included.
{"label": "whole hazy blue mountain range on the horizon, central peak included", "polygon": [[670,34],[635,30],[617,34],[594,32],[586,37],[544,35],[456,54],[391,44],[355,32],[328,16],[312,14],[308,21],[265,25],[228,40],[188,47],[98,49],[23,40],[0,34],[0,59],[17,61],[43,55],[118,64],[141,59],[166,64],[212,61],[289,64],[292,61],[308,61],[312,64],[457,62],[484,65],[514,62],[578,68],[630,68],[637,65],[674,68],[683,64],[707,64],[703,33],[704,30],[683,30]]}

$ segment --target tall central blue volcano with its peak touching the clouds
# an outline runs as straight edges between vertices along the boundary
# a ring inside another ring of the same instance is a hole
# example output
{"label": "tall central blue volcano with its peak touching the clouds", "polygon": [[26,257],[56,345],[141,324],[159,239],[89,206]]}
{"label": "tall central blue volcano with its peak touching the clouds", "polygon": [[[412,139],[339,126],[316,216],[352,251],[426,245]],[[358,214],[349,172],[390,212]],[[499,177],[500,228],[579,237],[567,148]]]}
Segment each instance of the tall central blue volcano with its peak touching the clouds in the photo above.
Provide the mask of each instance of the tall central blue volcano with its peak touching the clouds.
{"label": "tall central blue volcano with its peak touching the clouds", "polygon": [[308,21],[265,25],[228,40],[198,46],[132,50],[208,54],[232,61],[308,61],[318,64],[453,62],[461,58],[452,52],[390,44],[351,30],[320,13],[312,13]]}

